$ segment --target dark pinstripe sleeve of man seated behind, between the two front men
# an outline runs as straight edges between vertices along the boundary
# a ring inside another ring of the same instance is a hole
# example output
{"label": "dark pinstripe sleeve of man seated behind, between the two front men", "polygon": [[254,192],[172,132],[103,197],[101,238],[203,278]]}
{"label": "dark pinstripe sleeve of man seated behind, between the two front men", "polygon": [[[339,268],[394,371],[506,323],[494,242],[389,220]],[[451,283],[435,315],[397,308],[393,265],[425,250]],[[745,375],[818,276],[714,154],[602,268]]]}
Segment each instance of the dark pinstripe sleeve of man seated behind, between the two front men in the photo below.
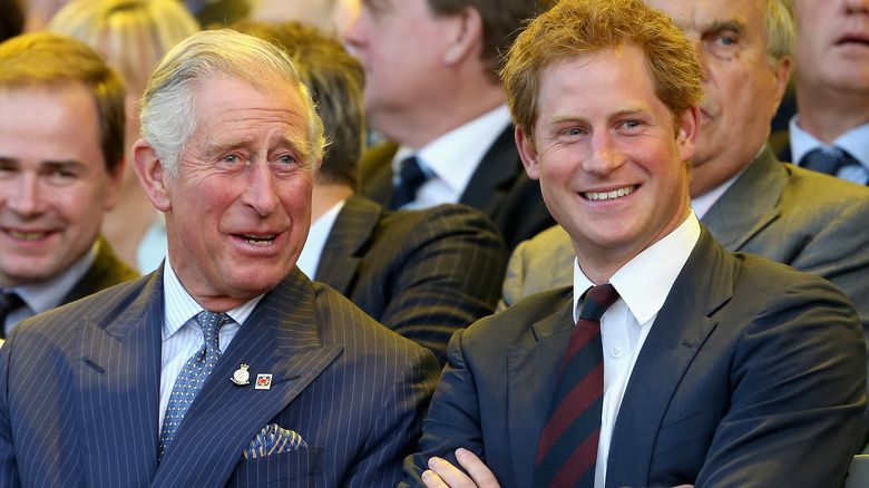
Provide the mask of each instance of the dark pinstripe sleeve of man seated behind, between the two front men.
{"label": "dark pinstripe sleeve of man seated behind, between the two front men", "polygon": [[443,364],[452,333],[495,310],[508,256],[495,227],[477,211],[447,205],[424,215],[408,233],[413,251],[397,271],[380,319],[432,350]]}

